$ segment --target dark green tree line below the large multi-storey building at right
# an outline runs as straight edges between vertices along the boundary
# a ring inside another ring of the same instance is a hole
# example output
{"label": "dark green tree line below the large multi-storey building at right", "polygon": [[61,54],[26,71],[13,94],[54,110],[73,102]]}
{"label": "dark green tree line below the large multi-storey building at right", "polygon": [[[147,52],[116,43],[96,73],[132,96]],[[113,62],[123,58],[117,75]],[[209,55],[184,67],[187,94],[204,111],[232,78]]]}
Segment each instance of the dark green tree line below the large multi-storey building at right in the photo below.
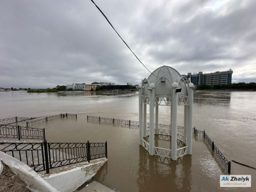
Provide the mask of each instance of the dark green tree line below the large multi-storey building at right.
{"label": "dark green tree line below the large multi-storey building at right", "polygon": [[196,90],[247,90],[256,89],[256,83],[232,83],[232,84],[200,84]]}

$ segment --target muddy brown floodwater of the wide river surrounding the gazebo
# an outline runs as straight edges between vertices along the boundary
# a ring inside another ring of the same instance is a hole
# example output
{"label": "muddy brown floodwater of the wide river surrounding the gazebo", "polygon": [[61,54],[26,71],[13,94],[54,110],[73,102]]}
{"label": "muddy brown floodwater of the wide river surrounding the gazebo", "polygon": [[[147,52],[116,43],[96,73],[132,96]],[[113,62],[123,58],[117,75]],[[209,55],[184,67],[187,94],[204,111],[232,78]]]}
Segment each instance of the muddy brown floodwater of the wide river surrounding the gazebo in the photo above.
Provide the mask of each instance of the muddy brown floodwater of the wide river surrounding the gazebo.
{"label": "muddy brown floodwater of the wide river surrounding the gazebo", "polygon": [[[229,161],[256,167],[256,92],[195,92],[193,126],[205,130]],[[183,125],[184,108],[178,108]],[[232,163],[232,174],[252,175],[252,188],[220,188],[225,174],[204,141],[193,139],[192,156],[168,161],[138,145],[138,129],[87,122],[86,115],[138,121],[138,93],[0,92],[0,117],[77,113],[51,120],[49,142],[108,141],[108,163],[94,179],[119,191],[256,191],[256,171]],[[159,124],[170,124],[170,108],[159,107]],[[170,141],[156,137],[159,147]]]}

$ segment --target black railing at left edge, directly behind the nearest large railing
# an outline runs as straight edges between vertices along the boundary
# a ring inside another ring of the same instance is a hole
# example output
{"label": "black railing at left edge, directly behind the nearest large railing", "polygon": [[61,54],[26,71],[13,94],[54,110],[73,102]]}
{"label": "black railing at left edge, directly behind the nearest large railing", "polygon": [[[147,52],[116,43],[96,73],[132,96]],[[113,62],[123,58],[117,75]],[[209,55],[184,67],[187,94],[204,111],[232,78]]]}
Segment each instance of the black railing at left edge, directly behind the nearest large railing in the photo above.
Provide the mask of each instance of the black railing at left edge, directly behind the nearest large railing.
{"label": "black railing at left edge, directly behind the nearest large railing", "polygon": [[0,138],[45,140],[45,130],[20,125],[0,125]]}

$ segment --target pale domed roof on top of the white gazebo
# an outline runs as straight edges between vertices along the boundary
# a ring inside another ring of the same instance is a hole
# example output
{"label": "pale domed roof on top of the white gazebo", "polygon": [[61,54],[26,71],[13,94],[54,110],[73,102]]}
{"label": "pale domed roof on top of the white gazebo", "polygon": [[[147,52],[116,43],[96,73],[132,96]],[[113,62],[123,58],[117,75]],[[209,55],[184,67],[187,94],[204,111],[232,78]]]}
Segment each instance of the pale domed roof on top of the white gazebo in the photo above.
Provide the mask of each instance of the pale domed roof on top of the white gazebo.
{"label": "pale domed roof on top of the white gazebo", "polygon": [[[180,79],[179,72],[172,67],[162,66],[154,70],[148,77],[149,83],[155,84],[155,95],[171,95],[172,84],[178,83],[178,88],[181,88],[179,95],[188,95],[187,87],[184,79]],[[180,81],[179,81],[180,80]],[[146,79],[144,81],[147,81]],[[146,82],[144,82],[146,83]],[[148,95],[148,83],[144,84],[143,95]]]}

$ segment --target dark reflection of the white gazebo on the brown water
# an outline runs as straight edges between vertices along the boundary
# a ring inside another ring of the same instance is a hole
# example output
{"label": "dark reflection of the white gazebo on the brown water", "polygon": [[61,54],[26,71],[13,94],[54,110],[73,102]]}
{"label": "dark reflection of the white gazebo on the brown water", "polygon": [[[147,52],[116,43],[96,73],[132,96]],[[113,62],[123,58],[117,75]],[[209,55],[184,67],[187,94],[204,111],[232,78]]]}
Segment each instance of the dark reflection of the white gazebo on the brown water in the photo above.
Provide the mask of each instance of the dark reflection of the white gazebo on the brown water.
{"label": "dark reflection of the white gazebo on the brown water", "polygon": [[191,156],[163,161],[159,156],[149,156],[142,146],[139,150],[138,191],[190,191]]}

